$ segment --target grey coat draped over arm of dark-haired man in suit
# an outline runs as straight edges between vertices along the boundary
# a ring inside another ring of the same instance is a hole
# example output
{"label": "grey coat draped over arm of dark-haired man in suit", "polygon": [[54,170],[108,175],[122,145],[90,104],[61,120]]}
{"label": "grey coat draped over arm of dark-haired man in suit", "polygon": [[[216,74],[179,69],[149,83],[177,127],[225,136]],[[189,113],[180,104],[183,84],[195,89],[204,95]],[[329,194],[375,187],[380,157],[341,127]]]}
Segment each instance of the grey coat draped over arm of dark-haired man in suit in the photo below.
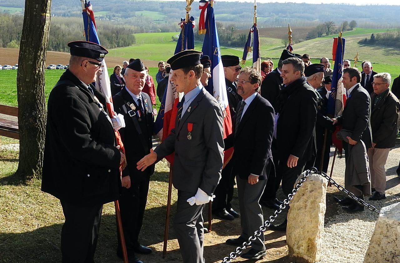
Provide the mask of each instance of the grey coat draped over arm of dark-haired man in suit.
{"label": "grey coat draped over arm of dark-haired man in suit", "polygon": [[[336,134],[336,137],[348,143],[347,136],[351,135],[351,131],[342,129]],[[355,145],[348,144],[348,153],[350,156],[347,158],[344,172],[344,188],[355,196],[370,196],[370,165],[364,142],[359,140]],[[348,153],[346,152],[346,154]]]}

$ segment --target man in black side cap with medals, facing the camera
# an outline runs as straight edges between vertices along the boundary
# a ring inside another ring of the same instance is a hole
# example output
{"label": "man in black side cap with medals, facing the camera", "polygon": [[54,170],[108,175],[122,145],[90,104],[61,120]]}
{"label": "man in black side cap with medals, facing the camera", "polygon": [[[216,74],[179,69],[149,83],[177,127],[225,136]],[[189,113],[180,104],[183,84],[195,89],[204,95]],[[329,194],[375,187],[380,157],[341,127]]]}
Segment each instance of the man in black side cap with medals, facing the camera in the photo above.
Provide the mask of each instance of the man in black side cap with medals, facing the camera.
{"label": "man in black side cap with medals, facing the camera", "polygon": [[[119,198],[122,227],[129,263],[141,263],[135,252],[151,253],[138,240],[146,208],[150,176],[154,165],[144,171],[136,169],[136,163],[152,148],[153,109],[148,94],[142,92],[147,71],[140,59],[135,59],[125,69],[126,87],[112,97],[116,113],[124,115],[125,128],[120,129],[126,152],[127,166],[122,172],[122,190]],[[118,235],[117,255],[122,258]]]}

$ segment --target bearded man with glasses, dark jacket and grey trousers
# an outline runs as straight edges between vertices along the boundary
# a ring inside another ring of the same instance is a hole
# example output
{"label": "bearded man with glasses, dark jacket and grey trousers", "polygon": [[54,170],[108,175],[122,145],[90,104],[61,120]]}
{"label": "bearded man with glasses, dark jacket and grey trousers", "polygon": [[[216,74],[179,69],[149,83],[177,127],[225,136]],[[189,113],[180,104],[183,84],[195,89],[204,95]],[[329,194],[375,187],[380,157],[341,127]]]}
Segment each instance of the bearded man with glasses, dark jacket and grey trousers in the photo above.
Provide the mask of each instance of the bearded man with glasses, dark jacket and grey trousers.
{"label": "bearded man with glasses, dark jacket and grey trousers", "polygon": [[[271,143],[274,134],[274,108],[258,94],[261,75],[255,69],[245,68],[239,75],[238,93],[243,100],[236,113],[232,134],[225,138],[225,148],[234,147],[232,173],[238,183],[240,225],[238,238],[227,244],[241,245],[263,225],[259,204],[272,162]],[[242,255],[246,259],[260,259],[266,254],[264,235],[252,241],[252,248]]]}

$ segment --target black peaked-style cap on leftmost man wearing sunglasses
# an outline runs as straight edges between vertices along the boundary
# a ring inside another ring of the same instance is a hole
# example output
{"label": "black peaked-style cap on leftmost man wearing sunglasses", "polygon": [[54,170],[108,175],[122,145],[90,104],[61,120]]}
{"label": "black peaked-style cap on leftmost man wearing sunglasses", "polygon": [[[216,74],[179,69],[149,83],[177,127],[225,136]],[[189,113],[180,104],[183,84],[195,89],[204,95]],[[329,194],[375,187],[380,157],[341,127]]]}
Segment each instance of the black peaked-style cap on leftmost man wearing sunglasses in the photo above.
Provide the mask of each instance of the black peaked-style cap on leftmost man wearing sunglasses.
{"label": "black peaked-style cap on leftmost man wearing sunglasses", "polygon": [[70,47],[71,55],[88,57],[100,62],[103,61],[104,56],[108,53],[108,50],[101,45],[88,41],[72,41],[68,43],[68,47]]}

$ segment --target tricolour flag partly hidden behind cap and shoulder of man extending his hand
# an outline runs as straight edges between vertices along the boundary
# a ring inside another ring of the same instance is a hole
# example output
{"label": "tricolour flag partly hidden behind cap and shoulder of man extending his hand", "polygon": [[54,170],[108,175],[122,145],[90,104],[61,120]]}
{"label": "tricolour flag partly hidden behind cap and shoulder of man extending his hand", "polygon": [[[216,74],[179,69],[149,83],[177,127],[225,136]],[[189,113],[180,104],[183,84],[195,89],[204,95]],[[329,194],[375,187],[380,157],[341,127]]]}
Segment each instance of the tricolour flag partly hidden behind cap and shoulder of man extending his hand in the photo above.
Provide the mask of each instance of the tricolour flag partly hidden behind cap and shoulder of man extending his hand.
{"label": "tricolour flag partly hidden behind cap and shoulder of man extending his hand", "polygon": [[[175,53],[184,51],[186,49],[194,49],[194,33],[193,28],[195,25],[193,16],[189,18],[186,23],[184,19],[179,23],[181,26],[181,32],[179,35],[178,43],[176,44]],[[169,80],[172,77],[173,70],[170,71]],[[178,105],[180,95],[176,91],[175,85],[168,81],[168,87],[162,97],[160,110],[156,121],[154,123],[154,133],[157,134],[161,140],[164,140],[171,133],[171,130],[175,128],[175,119],[178,114]],[[174,154],[170,154],[165,157],[170,164],[174,163]]]}

